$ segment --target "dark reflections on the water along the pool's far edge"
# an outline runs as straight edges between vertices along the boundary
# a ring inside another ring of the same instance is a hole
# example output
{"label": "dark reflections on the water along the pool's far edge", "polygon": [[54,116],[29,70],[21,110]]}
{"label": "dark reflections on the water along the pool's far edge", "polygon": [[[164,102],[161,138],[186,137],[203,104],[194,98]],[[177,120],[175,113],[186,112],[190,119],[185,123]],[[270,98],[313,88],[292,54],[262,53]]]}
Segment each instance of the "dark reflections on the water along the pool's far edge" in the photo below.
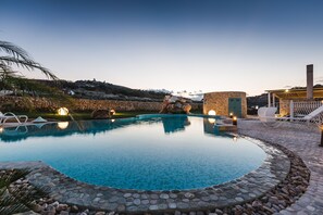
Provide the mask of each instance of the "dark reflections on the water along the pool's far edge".
{"label": "dark reflections on the water along the pool's far edge", "polygon": [[[227,136],[225,132],[219,131],[215,118],[203,118],[203,132],[212,136]],[[73,134],[96,135],[107,132],[127,126],[157,124],[162,123],[163,131],[171,135],[184,131],[191,123],[189,117],[167,116],[152,117],[146,119],[123,118],[123,119],[97,119],[97,121],[78,121],[78,122],[59,122],[59,123],[41,123],[28,126],[1,127],[0,141],[14,142],[22,141],[28,137],[64,137]]]}

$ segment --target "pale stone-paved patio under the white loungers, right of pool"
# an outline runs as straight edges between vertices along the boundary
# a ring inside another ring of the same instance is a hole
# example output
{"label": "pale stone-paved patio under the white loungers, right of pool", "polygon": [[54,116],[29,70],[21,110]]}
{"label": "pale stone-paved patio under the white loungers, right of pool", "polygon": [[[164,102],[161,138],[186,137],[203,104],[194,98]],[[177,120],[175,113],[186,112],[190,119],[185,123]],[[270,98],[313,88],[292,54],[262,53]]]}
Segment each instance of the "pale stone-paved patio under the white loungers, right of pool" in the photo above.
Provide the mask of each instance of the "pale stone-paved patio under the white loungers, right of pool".
{"label": "pale stone-paved patio under the white loungers, right of pool", "polygon": [[311,170],[310,185],[301,198],[277,214],[323,214],[323,148],[318,127],[295,123],[263,124],[239,121],[238,132],[266,142],[278,143],[299,155]]}

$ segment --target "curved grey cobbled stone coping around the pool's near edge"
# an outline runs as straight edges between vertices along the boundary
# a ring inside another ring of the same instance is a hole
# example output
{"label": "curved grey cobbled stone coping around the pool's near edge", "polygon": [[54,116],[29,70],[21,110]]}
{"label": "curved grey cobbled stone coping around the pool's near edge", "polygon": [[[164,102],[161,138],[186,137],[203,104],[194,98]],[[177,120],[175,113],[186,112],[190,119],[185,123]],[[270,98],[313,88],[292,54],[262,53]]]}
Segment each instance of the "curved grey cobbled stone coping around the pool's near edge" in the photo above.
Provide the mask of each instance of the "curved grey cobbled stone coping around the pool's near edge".
{"label": "curved grey cobbled stone coping around the pool's near edge", "polygon": [[27,168],[29,182],[48,190],[50,198],[87,208],[131,214],[221,208],[262,197],[289,173],[290,161],[283,151],[244,138],[265,151],[262,165],[240,178],[202,189],[145,191],[94,186],[70,178],[44,162],[0,162],[0,169]]}

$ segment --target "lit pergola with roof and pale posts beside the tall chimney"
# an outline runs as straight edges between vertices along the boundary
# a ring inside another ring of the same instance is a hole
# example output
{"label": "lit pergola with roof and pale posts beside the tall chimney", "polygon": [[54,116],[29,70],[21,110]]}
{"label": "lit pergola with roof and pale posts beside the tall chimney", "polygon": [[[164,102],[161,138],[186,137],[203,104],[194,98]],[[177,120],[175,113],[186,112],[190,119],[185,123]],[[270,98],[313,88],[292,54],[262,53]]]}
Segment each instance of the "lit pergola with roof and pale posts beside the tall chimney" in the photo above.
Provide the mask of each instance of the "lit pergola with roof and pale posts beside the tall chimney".
{"label": "lit pergola with roof and pale posts beside the tall chimney", "polygon": [[[268,104],[269,106],[275,106],[276,98],[278,100],[307,100],[307,89],[276,89],[265,90],[268,92]],[[313,99],[323,98],[323,88],[313,88]]]}

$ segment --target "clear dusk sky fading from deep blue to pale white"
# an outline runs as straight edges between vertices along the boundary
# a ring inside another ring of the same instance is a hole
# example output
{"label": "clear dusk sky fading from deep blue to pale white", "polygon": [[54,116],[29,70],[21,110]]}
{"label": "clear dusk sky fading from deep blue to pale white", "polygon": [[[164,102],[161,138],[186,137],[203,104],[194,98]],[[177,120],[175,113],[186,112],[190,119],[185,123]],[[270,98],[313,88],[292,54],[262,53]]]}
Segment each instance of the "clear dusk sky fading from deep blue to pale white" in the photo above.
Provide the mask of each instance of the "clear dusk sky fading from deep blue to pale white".
{"label": "clear dusk sky fading from deep blue to pale white", "polygon": [[306,86],[307,64],[323,84],[322,11],[322,0],[0,0],[0,40],[61,79],[254,96]]}

